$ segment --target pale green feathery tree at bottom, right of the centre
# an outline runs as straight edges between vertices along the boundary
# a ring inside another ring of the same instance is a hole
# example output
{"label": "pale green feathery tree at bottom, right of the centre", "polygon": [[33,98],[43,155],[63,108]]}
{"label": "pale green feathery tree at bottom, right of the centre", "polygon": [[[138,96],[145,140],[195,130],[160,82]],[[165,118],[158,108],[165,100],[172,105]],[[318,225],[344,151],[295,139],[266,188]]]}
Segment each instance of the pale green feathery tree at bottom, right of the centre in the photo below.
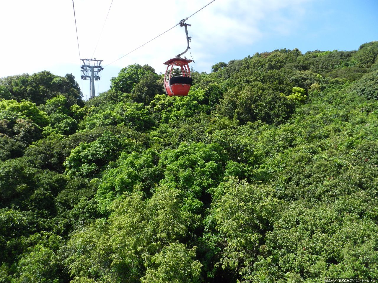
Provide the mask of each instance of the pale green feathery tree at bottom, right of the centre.
{"label": "pale green feathery tree at bottom, right of the centre", "polygon": [[225,239],[217,265],[239,271],[246,282],[251,279],[260,239],[278,203],[272,194],[267,186],[249,185],[235,177],[222,183],[215,193],[215,230],[219,241]]}

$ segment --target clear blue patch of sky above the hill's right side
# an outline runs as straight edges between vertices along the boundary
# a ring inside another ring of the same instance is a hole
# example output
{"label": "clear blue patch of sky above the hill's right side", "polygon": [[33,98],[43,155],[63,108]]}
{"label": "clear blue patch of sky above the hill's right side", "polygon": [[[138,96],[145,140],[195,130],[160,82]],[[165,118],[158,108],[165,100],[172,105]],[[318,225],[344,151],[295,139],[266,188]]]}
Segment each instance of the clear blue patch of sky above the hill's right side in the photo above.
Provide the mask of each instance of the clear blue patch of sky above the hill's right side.
{"label": "clear blue patch of sky above the hill's right side", "polygon": [[266,18],[259,24],[259,29],[264,32],[257,42],[249,46],[235,46],[231,52],[222,54],[219,60],[227,63],[255,52],[280,48],[298,48],[302,53],[316,49],[350,51],[365,42],[378,40],[378,0],[318,0],[301,6],[301,15],[293,14],[288,8],[281,10],[290,18],[298,17],[297,24],[286,33],[275,30],[270,19]]}

